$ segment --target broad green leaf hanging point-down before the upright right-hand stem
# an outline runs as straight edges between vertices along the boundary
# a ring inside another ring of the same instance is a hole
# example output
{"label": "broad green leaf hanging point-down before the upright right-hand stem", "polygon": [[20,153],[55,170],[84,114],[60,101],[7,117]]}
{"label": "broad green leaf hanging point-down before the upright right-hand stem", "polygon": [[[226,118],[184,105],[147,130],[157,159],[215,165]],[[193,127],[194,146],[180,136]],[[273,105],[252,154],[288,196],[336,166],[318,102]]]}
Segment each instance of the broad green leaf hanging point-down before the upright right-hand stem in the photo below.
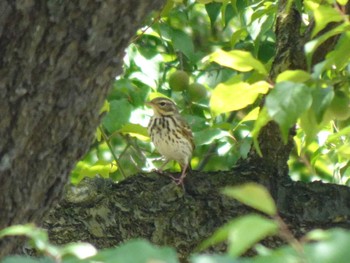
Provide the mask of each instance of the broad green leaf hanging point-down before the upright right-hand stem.
{"label": "broad green leaf hanging point-down before the upright right-hand stem", "polygon": [[296,123],[312,103],[311,91],[304,84],[293,82],[277,83],[266,97],[266,108],[271,118],[281,129],[285,143],[289,129]]}

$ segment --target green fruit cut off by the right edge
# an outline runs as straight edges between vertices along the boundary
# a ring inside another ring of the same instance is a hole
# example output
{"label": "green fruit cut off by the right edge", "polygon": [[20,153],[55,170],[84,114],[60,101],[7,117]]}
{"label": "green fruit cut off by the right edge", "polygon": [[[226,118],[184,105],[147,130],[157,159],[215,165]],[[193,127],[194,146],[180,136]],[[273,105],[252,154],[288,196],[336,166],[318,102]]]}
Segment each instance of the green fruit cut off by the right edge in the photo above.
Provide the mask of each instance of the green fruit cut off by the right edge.
{"label": "green fruit cut off by the right edge", "polygon": [[334,98],[329,105],[326,113],[326,117],[336,120],[346,120],[350,117],[350,99],[342,91],[337,91],[334,94]]}

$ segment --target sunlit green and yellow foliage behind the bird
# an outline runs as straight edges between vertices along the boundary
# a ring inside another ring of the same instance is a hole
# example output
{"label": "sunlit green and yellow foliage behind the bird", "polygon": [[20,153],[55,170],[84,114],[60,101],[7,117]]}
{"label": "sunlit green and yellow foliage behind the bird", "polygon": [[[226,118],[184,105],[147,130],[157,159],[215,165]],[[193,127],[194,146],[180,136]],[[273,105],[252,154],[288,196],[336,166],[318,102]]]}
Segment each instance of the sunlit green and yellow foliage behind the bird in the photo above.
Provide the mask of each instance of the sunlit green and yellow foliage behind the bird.
{"label": "sunlit green and yellow foliage behind the bird", "polygon": [[[341,133],[331,141],[327,138],[350,123],[349,22],[343,9],[329,1],[297,1],[296,6],[303,13],[302,30],[315,21],[313,38],[305,45],[309,68],[287,70],[270,80],[276,1],[169,0],[126,50],[124,73],[104,107],[102,132],[109,145],[98,130],[72,181],[78,183],[93,173],[120,181],[157,167],[160,156],[146,130],[152,111],[144,103],[167,96],[178,104],[194,132],[194,169],[230,169],[246,157],[252,142],[259,149],[260,129],[275,120],[284,139],[290,127],[298,127],[297,150],[289,162],[293,178],[347,183],[349,137]],[[322,33],[330,22],[338,26]],[[336,48],[311,67],[317,47],[334,35],[340,35]],[[191,85],[173,90],[168,81],[178,70],[188,74]],[[190,90],[194,86],[199,93]],[[335,94],[341,94],[341,103]],[[179,169],[175,163],[166,168]]]}

